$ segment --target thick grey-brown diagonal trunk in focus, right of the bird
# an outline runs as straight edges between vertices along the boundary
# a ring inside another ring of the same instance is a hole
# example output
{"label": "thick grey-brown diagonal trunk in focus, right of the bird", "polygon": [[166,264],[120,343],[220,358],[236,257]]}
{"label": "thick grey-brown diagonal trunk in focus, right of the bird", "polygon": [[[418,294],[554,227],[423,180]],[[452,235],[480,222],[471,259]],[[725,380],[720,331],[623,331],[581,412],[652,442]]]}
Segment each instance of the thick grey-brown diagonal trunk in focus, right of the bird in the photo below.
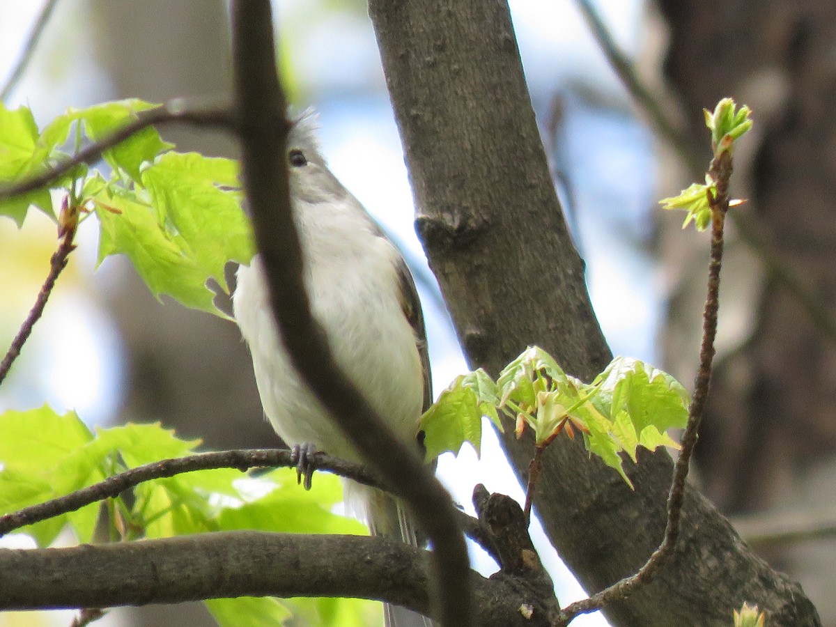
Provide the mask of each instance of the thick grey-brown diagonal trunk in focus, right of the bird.
{"label": "thick grey-brown diagonal trunk in focus, right of the bird", "polygon": [[[370,2],[418,227],[473,366],[496,374],[526,344],[589,380],[609,360],[549,179],[507,4]],[[706,244],[707,246],[707,244]],[[696,358],[695,358],[696,359]],[[529,441],[504,437],[523,476]],[[535,505],[587,589],[640,567],[662,538],[671,462],[645,455],[635,492],[560,442],[543,460]],[[654,584],[606,610],[618,625],[728,625],[757,600],[772,625],[816,625],[797,584],[773,573],[690,490],[685,534]]]}

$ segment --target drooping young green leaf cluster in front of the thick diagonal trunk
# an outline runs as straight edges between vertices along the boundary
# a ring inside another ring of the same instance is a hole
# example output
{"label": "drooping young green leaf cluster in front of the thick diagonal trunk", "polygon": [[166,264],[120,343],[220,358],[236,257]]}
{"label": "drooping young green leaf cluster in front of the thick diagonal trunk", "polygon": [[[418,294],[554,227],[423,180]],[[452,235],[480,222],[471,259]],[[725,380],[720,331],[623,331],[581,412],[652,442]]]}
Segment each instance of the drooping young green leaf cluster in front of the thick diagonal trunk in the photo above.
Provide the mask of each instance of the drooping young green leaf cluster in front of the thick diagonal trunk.
{"label": "drooping young green leaf cluster in front of the thick diagonal trunk", "polygon": [[[639,446],[678,447],[667,435],[688,418],[688,395],[672,376],[638,359],[616,357],[590,384],[567,375],[543,349],[529,347],[494,382],[484,370],[458,377],[426,411],[427,457],[458,453],[464,442],[479,451],[482,416],[502,430],[500,413],[515,422],[517,436],[533,431],[544,448],[565,433],[578,431],[587,450],[619,472],[621,453],[633,461]],[[630,484],[631,485],[631,484]]]}

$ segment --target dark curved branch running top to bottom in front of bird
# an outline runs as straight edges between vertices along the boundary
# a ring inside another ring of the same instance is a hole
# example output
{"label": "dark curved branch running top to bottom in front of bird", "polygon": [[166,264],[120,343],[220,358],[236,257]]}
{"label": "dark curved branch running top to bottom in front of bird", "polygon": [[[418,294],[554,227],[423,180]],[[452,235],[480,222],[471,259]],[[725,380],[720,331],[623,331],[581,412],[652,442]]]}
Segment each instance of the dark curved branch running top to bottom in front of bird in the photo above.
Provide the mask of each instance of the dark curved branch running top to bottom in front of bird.
{"label": "dark curved branch running top to bottom in front of bird", "polygon": [[364,459],[408,503],[433,547],[433,612],[446,627],[471,624],[467,550],[455,508],[441,483],[400,442],[334,364],[305,293],[302,254],[290,211],[286,103],[274,62],[268,0],[233,3],[233,63],[242,145],[242,177],[273,313],[293,365]]}

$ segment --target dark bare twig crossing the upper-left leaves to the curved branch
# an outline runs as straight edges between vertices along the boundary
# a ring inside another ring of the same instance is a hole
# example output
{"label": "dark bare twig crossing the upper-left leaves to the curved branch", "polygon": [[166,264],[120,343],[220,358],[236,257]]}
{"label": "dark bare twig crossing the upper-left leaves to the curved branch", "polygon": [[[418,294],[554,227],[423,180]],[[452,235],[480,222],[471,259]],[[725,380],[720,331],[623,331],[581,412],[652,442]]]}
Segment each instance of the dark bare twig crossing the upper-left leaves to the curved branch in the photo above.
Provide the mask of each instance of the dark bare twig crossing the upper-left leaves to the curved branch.
{"label": "dark bare twig crossing the upper-left leaves to the curved branch", "polygon": [[104,150],[113,148],[115,145],[129,139],[132,135],[151,125],[165,125],[178,122],[193,126],[209,126],[216,128],[232,128],[235,123],[235,114],[230,107],[206,107],[203,109],[187,107],[182,100],[171,100],[159,107],[141,111],[137,119],[123,126],[120,130],[114,131],[103,139],[90,144],[84,149],[56,166],[48,168],[38,176],[33,176],[8,187],[0,187],[0,201],[7,200],[13,196],[25,194],[28,191],[48,186],[61,176],[64,176],[75,166],[86,163],[92,165],[101,159]]}

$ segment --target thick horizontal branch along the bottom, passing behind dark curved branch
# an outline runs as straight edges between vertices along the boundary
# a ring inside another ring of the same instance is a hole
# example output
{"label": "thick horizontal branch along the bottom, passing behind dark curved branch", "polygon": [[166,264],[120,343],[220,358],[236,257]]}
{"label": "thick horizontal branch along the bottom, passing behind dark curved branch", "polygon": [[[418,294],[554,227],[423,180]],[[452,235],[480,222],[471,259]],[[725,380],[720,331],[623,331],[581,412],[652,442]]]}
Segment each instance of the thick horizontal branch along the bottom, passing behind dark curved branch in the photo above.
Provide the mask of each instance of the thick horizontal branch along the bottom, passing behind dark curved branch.
{"label": "thick horizontal branch along the bottom, passing behind dark curved branch", "polygon": [[[429,561],[426,551],[382,538],[263,532],[0,549],[0,609],[115,607],[272,595],[379,599],[427,613]],[[520,614],[520,607],[536,602],[528,594],[470,570],[467,577],[476,593],[478,624],[547,624],[542,615],[528,620]]]}

